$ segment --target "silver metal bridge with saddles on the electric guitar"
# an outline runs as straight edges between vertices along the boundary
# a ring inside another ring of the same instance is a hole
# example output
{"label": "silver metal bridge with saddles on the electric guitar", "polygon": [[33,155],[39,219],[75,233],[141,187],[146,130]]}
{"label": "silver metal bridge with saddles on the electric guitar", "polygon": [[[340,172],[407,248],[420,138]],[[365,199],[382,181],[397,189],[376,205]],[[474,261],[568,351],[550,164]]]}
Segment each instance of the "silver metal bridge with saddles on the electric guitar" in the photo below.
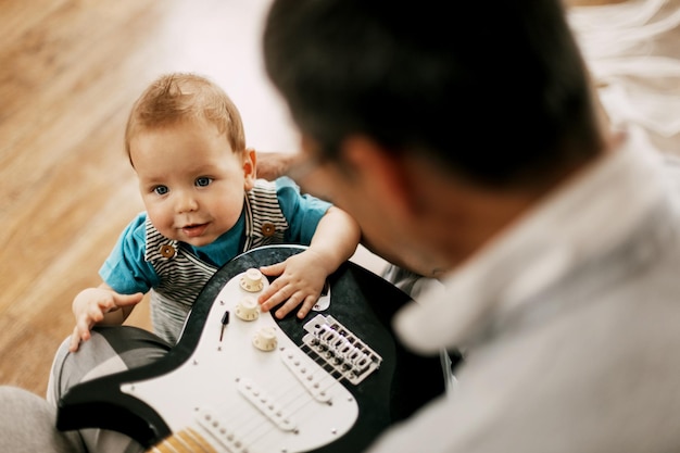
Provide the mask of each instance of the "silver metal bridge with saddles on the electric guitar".
{"label": "silver metal bridge with saddles on the electric guitar", "polygon": [[304,325],[302,342],[353,385],[380,367],[382,357],[332,316],[316,315]]}

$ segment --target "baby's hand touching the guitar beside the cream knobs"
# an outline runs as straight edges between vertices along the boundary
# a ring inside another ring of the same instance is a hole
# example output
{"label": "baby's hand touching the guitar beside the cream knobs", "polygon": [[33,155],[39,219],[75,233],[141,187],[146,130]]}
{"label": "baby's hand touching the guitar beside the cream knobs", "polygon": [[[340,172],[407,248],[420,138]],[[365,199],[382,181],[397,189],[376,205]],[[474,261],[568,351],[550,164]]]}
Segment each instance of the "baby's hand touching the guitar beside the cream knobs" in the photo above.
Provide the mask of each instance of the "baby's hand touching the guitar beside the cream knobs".
{"label": "baby's hand touching the guitar beside the cream knobs", "polygon": [[312,250],[292,255],[282,263],[263,266],[260,270],[267,276],[278,276],[257,302],[266,312],[285,301],[274,314],[279,319],[300,304],[298,317],[305,317],[318,300],[328,276],[320,255]]}

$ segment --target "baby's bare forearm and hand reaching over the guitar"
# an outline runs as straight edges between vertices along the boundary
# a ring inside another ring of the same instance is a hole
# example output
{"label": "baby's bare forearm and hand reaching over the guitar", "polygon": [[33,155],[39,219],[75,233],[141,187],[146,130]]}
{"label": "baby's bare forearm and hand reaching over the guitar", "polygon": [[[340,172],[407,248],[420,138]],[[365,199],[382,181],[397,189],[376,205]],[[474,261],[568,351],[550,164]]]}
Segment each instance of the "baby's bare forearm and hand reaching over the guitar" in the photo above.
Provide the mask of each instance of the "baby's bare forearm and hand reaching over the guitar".
{"label": "baby's bare forearm and hand reaching over the guitar", "polygon": [[282,263],[261,267],[264,275],[279,276],[260,295],[257,301],[262,310],[270,310],[286,301],[276,311],[277,318],[282,318],[300,304],[298,317],[305,317],[318,300],[326,277],[354,254],[360,239],[358,224],[344,211],[329,207],[305,251]]}

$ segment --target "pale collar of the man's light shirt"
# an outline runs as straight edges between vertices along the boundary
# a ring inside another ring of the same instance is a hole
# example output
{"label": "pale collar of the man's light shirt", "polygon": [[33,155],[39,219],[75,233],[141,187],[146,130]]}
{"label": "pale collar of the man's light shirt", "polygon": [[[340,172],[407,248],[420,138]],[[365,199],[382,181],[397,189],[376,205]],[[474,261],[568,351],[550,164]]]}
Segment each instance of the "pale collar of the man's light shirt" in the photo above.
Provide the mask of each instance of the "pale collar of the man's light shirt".
{"label": "pale collar of the man's light shirt", "polygon": [[394,318],[396,332],[424,353],[464,345],[489,317],[517,309],[629,235],[665,190],[659,166],[658,152],[627,130],[619,149],[442,279],[443,291],[404,306]]}

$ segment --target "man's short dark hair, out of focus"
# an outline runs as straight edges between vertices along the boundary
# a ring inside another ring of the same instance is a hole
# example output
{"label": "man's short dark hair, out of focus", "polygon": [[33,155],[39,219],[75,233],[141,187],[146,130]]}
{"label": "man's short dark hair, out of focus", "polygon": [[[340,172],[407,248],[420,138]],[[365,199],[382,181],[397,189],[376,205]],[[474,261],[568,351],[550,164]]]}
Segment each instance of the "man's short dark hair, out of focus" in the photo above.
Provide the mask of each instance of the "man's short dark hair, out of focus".
{"label": "man's short dark hair, out of focus", "polygon": [[559,0],[275,0],[264,56],[326,153],[363,134],[504,186],[601,147]]}

